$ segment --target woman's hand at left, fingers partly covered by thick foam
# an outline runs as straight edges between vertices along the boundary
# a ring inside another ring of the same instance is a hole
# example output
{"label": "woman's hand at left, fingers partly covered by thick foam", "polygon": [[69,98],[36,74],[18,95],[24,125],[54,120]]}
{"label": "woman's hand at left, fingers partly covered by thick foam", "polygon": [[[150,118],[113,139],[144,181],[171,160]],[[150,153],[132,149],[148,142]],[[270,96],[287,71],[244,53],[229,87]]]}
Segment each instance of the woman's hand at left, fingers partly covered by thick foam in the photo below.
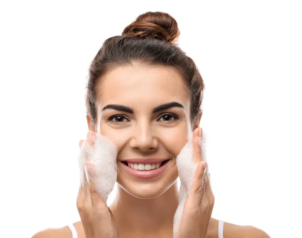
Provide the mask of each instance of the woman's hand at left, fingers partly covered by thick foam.
{"label": "woman's hand at left, fingers partly covered by thick foam", "polygon": [[[95,132],[88,132],[86,143],[93,145],[94,141],[91,138],[93,135]],[[80,141],[80,148],[83,141]],[[103,201],[97,193],[95,181],[90,179],[93,170],[93,164],[88,162],[86,158],[85,186],[83,188],[81,184],[77,198],[77,207],[86,238],[117,238],[118,229],[113,214],[106,201]],[[86,173],[88,173],[87,176]],[[90,181],[87,181],[87,177]]]}

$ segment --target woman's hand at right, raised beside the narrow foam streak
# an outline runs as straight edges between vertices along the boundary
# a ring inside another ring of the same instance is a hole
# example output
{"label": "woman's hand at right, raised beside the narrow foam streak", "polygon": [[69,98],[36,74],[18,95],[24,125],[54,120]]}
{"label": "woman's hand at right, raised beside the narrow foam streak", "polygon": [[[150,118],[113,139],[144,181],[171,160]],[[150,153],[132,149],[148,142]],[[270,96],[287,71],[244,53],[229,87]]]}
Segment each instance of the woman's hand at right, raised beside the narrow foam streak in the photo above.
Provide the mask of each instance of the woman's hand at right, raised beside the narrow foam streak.
{"label": "woman's hand at right, raised beside the narrow foam streak", "polygon": [[203,169],[207,162],[202,161],[201,147],[198,144],[199,138],[202,137],[202,131],[199,137],[198,129],[193,132],[193,158],[195,162],[200,163],[197,166],[193,183],[184,205],[177,238],[206,238],[214,206],[215,199],[209,177],[207,173],[204,173],[205,170]]}

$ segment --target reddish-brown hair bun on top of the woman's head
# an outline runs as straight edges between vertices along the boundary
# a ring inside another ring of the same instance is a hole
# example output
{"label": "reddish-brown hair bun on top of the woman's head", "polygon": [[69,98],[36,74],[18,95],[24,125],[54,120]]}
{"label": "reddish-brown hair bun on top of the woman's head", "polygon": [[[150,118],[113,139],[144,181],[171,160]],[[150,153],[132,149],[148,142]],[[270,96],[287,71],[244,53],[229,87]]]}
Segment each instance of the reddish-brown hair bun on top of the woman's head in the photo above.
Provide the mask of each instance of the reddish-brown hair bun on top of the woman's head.
{"label": "reddish-brown hair bun on top of the woman's head", "polygon": [[169,44],[176,44],[179,35],[176,20],[163,12],[146,12],[139,15],[122,33],[122,36],[140,39],[152,37]]}

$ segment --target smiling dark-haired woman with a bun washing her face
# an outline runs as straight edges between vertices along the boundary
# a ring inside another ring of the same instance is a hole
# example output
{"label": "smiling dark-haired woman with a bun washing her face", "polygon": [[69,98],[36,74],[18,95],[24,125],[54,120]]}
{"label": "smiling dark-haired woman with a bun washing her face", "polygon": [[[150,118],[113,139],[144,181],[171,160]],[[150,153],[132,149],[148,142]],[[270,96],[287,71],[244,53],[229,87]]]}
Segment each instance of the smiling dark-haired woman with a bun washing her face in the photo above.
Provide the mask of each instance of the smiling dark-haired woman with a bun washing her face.
{"label": "smiling dark-haired woman with a bun washing her face", "polygon": [[[116,145],[117,195],[107,207],[94,184],[88,185],[86,180],[77,199],[81,220],[40,231],[34,238],[173,237],[173,218],[179,203],[176,157],[193,132],[194,157],[201,161],[197,145],[202,136],[198,125],[204,90],[194,61],[177,46],[179,34],[177,22],[169,14],[147,12],[127,26],[121,36],[104,42],[90,66],[86,141],[93,143],[91,136],[100,131]],[[145,170],[167,165],[149,179],[129,172],[137,170],[135,164],[150,164]],[[208,178],[203,165],[205,162],[199,163],[196,169],[179,238],[269,237],[256,227],[211,217],[214,195],[210,181],[203,182],[204,176]],[[111,219],[104,218],[108,215]]]}

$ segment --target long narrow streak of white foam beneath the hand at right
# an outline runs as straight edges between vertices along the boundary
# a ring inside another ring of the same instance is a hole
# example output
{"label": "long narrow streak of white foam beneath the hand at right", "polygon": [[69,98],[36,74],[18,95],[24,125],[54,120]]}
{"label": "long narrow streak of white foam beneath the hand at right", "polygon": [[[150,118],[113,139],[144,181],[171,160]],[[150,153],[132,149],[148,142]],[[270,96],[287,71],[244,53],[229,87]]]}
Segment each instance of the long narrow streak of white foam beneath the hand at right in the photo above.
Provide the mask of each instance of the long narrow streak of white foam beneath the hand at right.
{"label": "long narrow streak of white foam beneath the hand at right", "polygon": [[[204,136],[200,138],[198,144],[202,150],[201,159],[202,161],[206,161]],[[194,151],[194,147],[193,147],[193,132],[192,132],[188,138],[187,143],[184,145],[184,147],[181,149],[180,153],[176,157],[176,166],[177,166],[178,175],[181,183],[179,189],[179,204],[174,214],[174,220],[173,220],[173,238],[176,238],[178,235],[178,228],[179,228],[182,212],[187,197],[189,195],[191,186],[193,184],[193,179],[197,168],[197,164],[195,164],[193,160],[193,151]],[[208,165],[206,165],[204,171],[204,184],[207,181],[205,176],[206,174],[208,174]]]}

